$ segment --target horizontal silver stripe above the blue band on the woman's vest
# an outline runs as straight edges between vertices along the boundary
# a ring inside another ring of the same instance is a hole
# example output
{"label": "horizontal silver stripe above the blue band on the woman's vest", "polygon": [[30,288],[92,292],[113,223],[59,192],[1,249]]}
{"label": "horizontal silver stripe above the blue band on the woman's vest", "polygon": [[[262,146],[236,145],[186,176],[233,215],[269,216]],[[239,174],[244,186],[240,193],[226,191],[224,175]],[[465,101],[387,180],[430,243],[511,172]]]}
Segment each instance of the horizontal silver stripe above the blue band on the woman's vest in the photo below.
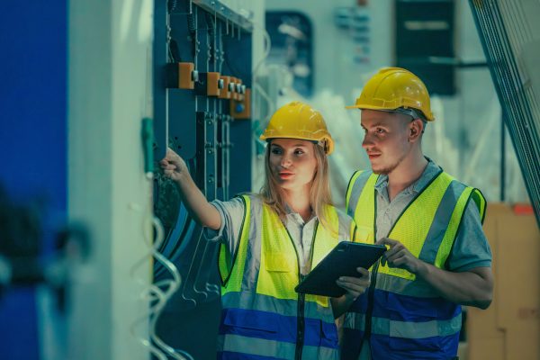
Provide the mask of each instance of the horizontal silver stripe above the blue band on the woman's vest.
{"label": "horizontal silver stripe above the blue band on the woman's vest", "polygon": [[[221,303],[224,309],[234,307],[245,310],[275,312],[284,316],[296,317],[298,315],[298,302],[296,300],[276,299],[260,293],[226,293],[223,295]],[[330,324],[334,323],[334,316],[329,307],[324,308],[317,302],[304,302],[304,304],[305,314],[319,314],[320,318],[324,315],[324,319],[321,320]]]}

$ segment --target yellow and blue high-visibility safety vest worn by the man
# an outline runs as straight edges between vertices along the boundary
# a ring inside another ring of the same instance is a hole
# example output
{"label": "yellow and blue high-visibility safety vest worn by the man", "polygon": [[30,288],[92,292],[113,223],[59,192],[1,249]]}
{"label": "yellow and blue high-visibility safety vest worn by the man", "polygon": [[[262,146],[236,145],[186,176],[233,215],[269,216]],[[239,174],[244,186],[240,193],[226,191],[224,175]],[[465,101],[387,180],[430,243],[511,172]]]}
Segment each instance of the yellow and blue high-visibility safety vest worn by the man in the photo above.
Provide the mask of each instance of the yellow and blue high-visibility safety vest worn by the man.
{"label": "yellow and blue high-visibility safety vest worn by the man", "polygon": [[[378,175],[358,171],[347,187],[347,212],[354,214],[366,241],[376,237]],[[412,255],[444,269],[467,203],[485,214],[482,193],[445,172],[427,184],[402,211],[387,238],[401,241]],[[356,360],[368,342],[374,360],[450,359],[459,342],[461,305],[440,297],[407,270],[372,268],[372,284],[349,308],[344,324],[342,359]]]}

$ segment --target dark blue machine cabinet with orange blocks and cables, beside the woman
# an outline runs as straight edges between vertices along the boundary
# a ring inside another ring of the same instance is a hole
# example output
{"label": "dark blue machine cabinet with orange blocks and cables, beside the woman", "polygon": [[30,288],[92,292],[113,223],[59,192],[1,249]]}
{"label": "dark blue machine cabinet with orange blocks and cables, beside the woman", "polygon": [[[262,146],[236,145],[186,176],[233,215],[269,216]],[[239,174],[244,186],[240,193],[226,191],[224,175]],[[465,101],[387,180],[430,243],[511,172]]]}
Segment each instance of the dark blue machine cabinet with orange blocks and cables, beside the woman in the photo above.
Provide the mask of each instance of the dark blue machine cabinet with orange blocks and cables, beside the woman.
{"label": "dark blue machine cabinet with orange blocks and cables, beside the woman", "polygon": [[[224,4],[155,2],[154,155],[172,148],[209,201],[251,190],[252,24]],[[182,284],[157,321],[157,336],[195,359],[215,356],[220,320],[218,244],[204,237],[175,184],[155,173],[165,228],[160,251]],[[154,280],[168,275],[160,264]]]}

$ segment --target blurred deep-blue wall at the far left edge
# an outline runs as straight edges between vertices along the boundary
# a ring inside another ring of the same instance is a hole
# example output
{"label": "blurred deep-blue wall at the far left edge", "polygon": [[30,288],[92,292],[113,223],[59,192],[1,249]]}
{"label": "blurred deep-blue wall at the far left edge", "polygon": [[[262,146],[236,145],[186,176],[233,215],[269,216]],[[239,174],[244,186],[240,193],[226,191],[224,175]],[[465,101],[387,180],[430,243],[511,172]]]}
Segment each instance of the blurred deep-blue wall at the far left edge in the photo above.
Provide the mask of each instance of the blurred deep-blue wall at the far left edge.
{"label": "blurred deep-blue wall at the far left edge", "polygon": [[[2,2],[0,183],[21,205],[46,197],[45,248],[66,220],[66,104],[66,0]],[[31,287],[0,293],[1,358],[40,358],[35,304]]]}

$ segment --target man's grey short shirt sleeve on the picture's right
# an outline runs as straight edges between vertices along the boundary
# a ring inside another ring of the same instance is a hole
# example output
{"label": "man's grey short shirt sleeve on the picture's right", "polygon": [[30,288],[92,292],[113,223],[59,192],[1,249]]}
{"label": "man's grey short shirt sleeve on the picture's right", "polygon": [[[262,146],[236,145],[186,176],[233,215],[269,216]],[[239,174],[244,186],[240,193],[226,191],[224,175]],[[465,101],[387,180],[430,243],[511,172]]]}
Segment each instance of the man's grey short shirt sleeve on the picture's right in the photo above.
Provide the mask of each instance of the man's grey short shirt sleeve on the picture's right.
{"label": "man's grey short shirt sleeve on the picture's right", "polygon": [[491,248],[483,232],[476,203],[470,201],[448,257],[447,268],[461,273],[474,267],[491,267]]}

